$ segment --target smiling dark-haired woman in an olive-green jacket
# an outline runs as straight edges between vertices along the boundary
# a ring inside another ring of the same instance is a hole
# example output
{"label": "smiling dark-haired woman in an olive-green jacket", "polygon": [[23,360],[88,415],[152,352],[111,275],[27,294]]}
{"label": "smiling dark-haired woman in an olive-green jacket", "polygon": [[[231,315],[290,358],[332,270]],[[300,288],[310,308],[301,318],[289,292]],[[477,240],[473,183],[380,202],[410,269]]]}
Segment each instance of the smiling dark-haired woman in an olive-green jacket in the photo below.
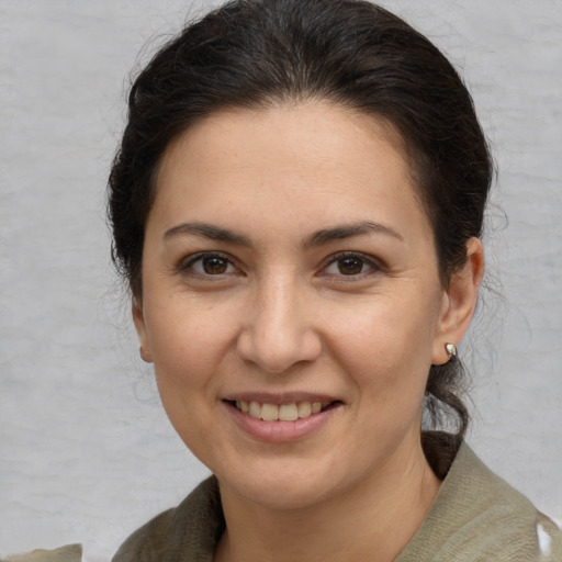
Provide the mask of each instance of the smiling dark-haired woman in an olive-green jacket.
{"label": "smiling dark-haired woman in an olive-green jacket", "polygon": [[114,258],[214,476],[116,562],[560,557],[462,441],[491,178],[454,69],[371,3],[235,1],[156,55],[110,177]]}

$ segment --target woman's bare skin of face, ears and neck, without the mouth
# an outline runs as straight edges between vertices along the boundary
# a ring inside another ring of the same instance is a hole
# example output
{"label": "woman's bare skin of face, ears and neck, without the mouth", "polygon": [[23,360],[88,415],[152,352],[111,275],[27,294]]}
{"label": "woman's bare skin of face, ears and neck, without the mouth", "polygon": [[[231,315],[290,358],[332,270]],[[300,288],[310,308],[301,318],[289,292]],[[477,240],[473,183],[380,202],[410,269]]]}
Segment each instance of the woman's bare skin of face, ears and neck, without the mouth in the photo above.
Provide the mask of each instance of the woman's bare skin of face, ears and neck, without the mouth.
{"label": "woman's bare skin of face, ears and neck, without the mouth", "polygon": [[[316,101],[215,113],[165,154],[133,313],[173,427],[218,479],[217,561],[393,560],[437,494],[423,397],[470,324],[483,250],[469,240],[441,285],[395,139]],[[236,423],[240,393],[337,403],[269,442]]]}

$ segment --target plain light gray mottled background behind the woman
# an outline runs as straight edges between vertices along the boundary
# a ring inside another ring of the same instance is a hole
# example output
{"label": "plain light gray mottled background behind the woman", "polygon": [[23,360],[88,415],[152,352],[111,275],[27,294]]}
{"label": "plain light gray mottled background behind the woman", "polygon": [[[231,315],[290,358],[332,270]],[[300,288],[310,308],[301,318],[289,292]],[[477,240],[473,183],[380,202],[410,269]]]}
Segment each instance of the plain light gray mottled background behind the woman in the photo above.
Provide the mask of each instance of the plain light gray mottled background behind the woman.
{"label": "plain light gray mottled background behind the woman", "polygon": [[[560,521],[562,1],[384,4],[461,68],[499,167],[470,441]],[[108,559],[206,473],[137,358],[104,225],[125,77],[188,5],[0,0],[0,554]]]}

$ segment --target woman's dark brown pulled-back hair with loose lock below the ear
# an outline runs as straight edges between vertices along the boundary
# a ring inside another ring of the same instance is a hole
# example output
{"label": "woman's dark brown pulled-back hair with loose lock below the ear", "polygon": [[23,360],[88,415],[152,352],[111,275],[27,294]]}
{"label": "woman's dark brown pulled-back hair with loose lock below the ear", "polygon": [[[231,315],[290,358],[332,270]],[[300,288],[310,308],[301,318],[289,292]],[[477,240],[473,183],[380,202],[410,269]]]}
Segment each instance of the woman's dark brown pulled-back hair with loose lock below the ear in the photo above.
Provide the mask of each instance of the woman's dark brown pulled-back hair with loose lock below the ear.
{"label": "woman's dark brown pulled-back hair with loose lock below the ear", "polygon": [[[400,134],[432,226],[441,282],[482,233],[492,162],[472,99],[420,33],[364,0],[235,0],[187,26],[139,74],[109,179],[113,260],[142,296],[144,231],[158,164],[170,140],[226,108],[327,100],[390,123]],[[469,414],[462,366],[432,366],[434,424]]]}

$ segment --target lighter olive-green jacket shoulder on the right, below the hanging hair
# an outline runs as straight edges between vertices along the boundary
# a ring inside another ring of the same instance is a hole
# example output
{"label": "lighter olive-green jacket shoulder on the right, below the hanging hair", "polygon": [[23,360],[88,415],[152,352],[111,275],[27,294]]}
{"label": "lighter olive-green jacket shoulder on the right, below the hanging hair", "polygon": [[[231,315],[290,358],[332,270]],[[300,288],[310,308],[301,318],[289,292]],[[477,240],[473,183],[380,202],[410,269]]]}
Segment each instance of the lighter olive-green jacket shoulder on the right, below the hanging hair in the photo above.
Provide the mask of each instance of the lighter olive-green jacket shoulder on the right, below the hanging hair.
{"label": "lighter olive-green jacket shoulder on the right, below the hanging hair", "polygon": [[[424,524],[396,562],[560,560],[561,531],[462,443]],[[550,551],[554,558],[543,558]]]}

